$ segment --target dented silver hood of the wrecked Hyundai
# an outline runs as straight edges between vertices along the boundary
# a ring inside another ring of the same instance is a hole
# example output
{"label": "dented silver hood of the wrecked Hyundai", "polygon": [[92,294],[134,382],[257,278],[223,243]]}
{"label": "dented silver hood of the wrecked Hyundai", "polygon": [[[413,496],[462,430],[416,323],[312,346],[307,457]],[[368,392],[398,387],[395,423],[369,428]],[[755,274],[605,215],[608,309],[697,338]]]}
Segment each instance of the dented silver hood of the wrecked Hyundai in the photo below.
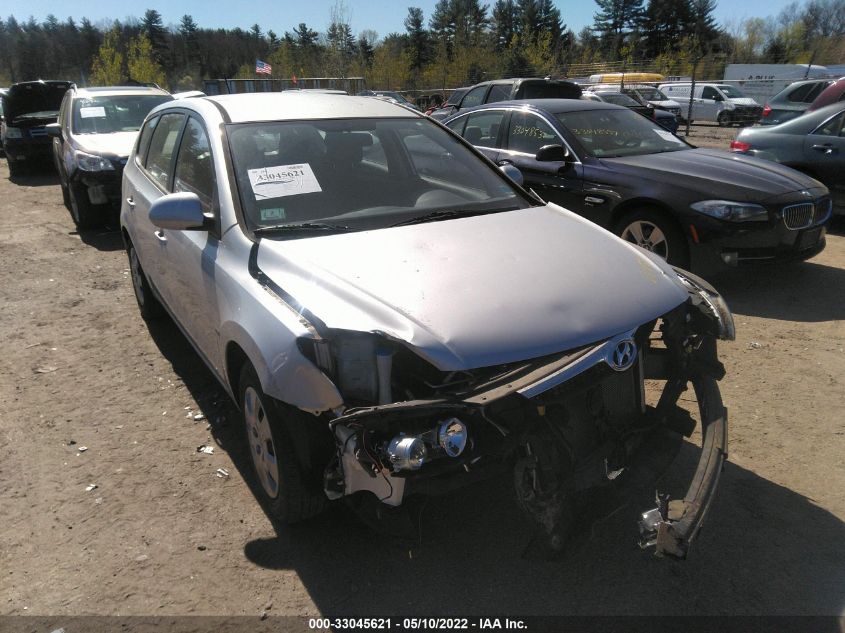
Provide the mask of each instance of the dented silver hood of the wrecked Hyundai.
{"label": "dented silver hood of the wrecked Hyundai", "polygon": [[262,239],[256,262],[326,326],[382,333],[442,370],[600,341],[687,298],[667,265],[555,205]]}

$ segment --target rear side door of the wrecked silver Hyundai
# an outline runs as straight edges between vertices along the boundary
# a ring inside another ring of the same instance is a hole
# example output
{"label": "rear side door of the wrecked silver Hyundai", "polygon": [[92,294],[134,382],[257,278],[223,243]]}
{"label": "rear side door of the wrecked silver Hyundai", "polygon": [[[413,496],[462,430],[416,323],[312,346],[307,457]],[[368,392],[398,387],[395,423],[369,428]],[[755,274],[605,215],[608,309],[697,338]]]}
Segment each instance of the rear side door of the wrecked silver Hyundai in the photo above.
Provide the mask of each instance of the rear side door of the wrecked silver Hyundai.
{"label": "rear side door of the wrecked silver Hyundai", "polygon": [[141,265],[147,278],[158,291],[168,308],[171,307],[173,291],[172,280],[164,276],[162,251],[164,234],[150,222],[150,206],[171,190],[173,181],[173,162],[177,141],[185,125],[186,116],[182,112],[167,112],[145,125],[143,135],[150,134],[149,149],[146,156],[138,156],[134,166],[135,177],[124,179],[123,197],[127,205],[127,215],[131,218],[131,237],[141,259]]}

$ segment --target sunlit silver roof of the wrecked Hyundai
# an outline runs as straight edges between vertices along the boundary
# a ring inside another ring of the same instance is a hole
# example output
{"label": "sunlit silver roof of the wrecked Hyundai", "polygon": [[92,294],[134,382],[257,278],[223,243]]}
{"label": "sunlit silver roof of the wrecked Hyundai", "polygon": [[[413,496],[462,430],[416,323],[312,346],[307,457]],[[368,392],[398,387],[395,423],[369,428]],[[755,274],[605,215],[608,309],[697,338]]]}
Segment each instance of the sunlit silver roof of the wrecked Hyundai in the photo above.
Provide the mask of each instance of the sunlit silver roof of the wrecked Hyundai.
{"label": "sunlit silver roof of the wrecked Hyundai", "polygon": [[422,117],[419,112],[372,97],[309,92],[259,92],[199,98],[222,108],[232,123]]}

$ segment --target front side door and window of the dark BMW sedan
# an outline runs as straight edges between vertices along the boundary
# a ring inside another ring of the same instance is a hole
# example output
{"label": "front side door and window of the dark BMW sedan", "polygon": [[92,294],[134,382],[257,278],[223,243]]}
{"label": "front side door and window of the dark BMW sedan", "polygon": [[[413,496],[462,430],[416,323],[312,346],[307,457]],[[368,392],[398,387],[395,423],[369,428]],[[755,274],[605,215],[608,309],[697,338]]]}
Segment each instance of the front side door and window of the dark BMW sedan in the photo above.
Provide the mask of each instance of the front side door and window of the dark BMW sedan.
{"label": "front side door and window of the dark BMW sedan", "polygon": [[533,189],[543,200],[582,213],[584,196],[580,163],[564,167],[561,162],[539,162],[536,154],[544,145],[563,145],[568,148],[561,135],[545,118],[534,112],[512,110],[497,162],[500,165],[510,163],[519,168],[525,179],[524,186]]}

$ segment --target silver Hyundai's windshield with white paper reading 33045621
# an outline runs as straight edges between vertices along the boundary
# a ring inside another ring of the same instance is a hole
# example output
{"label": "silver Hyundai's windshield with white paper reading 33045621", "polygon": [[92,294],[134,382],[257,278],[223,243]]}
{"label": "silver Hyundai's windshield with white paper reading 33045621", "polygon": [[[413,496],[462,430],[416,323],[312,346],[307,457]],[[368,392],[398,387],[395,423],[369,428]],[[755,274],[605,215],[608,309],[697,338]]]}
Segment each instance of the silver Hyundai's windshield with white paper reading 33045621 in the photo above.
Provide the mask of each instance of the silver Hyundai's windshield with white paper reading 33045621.
{"label": "silver Hyundai's windshield with white paper reading 33045621", "polygon": [[227,129],[250,230],[317,222],[371,229],[434,211],[530,206],[503,175],[427,119],[272,121]]}

